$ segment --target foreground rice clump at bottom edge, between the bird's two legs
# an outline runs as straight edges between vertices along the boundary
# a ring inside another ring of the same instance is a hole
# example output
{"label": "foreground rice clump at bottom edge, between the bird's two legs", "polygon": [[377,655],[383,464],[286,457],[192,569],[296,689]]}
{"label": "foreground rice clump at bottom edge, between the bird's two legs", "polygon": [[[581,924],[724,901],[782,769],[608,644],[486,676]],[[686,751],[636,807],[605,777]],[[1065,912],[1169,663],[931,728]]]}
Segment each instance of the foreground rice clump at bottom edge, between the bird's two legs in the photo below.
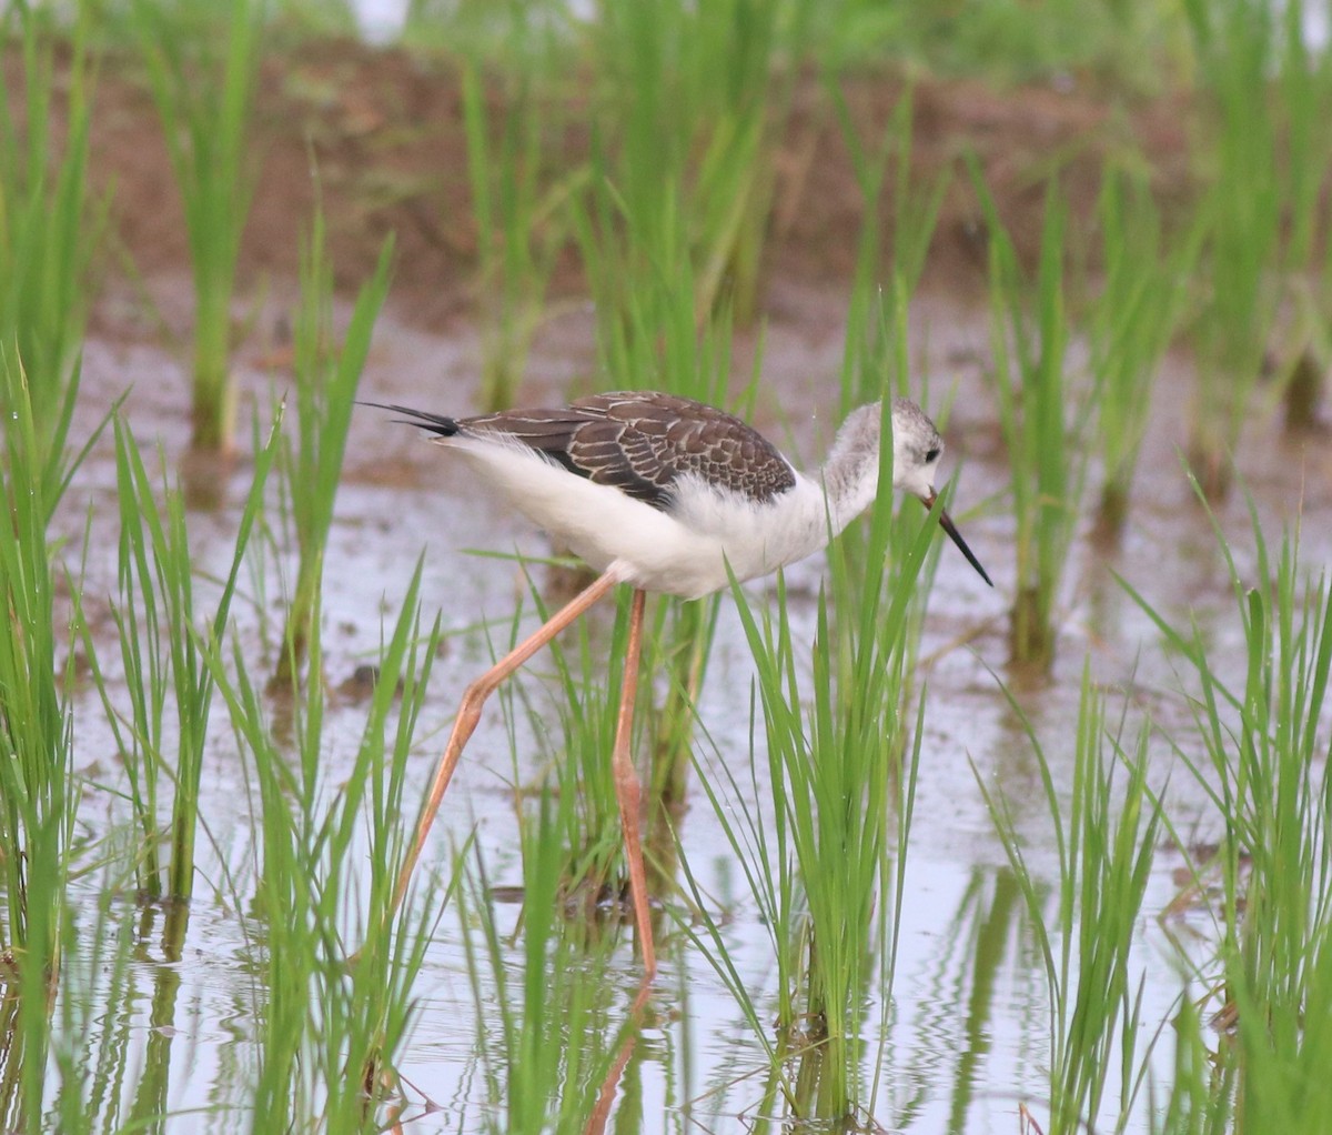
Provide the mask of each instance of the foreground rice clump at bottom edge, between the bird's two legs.
{"label": "foreground rice clump at bottom edge, between the bird's two legs", "polygon": [[[561,869],[562,831],[571,801],[542,791],[535,815],[521,825],[522,947],[513,958],[500,929],[480,850],[460,891],[472,914],[464,945],[486,1091],[497,1114],[485,1130],[513,1132],[587,1131],[617,1071],[626,1030],[637,1031],[641,1006],[613,1026],[615,983],[609,980],[605,939],[581,933],[558,914],[566,903]],[[476,941],[477,926],[481,942]],[[626,1034],[627,1035],[627,1034]],[[629,1122],[621,1116],[618,1123]]]}

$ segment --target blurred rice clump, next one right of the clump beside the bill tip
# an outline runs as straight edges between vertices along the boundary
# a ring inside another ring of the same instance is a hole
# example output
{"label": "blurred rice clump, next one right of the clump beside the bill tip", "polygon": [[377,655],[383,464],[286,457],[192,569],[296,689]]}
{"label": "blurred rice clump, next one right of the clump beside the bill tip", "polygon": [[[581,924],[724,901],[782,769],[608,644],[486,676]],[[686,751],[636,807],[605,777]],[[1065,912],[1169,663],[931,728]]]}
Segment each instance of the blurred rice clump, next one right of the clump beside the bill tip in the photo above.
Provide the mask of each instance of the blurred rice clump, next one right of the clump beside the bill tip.
{"label": "blurred rice clump, next one right of the clump beside the bill tip", "polygon": [[1118,541],[1128,517],[1152,389],[1188,298],[1205,226],[1169,240],[1147,185],[1106,173],[1096,202],[1103,278],[1086,317],[1098,404],[1098,532]]}

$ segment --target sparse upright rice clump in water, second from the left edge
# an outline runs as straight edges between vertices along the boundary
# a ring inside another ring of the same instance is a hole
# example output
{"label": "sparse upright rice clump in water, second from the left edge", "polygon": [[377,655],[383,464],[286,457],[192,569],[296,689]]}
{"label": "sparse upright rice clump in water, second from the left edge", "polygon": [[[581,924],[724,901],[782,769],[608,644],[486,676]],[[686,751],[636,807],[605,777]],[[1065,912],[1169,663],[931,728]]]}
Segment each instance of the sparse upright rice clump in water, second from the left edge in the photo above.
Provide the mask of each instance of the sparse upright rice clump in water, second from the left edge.
{"label": "sparse upright rice clump in water, second from the left edge", "polygon": [[[128,711],[115,702],[100,669],[93,678],[129,781],[129,802],[139,827],[137,877],[149,895],[174,901],[184,935],[185,903],[193,891],[198,789],[208,741],[214,677],[209,643],[221,641],[230,613],[249,536],[264,508],[268,476],[280,444],[281,414],[256,453],[254,477],[241,510],[230,568],[217,606],[200,627],[194,602],[185,506],[178,488],[166,486],[159,502],[139,444],[124,417],[115,420],[120,506],[120,599],[113,618],[125,671]],[[85,631],[84,643],[96,643]],[[170,721],[168,721],[170,707]],[[164,789],[170,785],[170,818],[163,829]],[[163,862],[161,847],[168,851]],[[178,942],[178,938],[176,939]]]}

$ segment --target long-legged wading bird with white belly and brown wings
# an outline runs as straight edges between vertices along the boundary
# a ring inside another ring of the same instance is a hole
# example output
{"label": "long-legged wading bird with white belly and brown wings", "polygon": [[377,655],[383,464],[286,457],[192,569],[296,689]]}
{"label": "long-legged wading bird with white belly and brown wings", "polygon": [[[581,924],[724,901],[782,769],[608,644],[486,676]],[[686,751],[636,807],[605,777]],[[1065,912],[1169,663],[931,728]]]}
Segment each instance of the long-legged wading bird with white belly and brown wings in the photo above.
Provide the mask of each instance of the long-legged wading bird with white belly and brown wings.
{"label": "long-legged wading bird with white belly and brown wings", "polygon": [[[401,905],[449,781],[485,699],[533,654],[617,586],[633,589],[611,769],[646,978],[657,970],[639,834],[639,783],[630,753],[647,593],[697,599],[794,564],[825,548],[875,498],[884,417],[892,486],[932,509],[943,438],[907,398],[852,410],[827,460],[802,473],[742,418],[693,398],[615,390],[554,409],[449,417],[365,402],[400,416],[454,452],[500,497],[545,529],[597,578],[537,631],[473,681],[422,805],[401,867]],[[887,416],[884,414],[887,409]],[[980,578],[986,569],[947,510],[939,524]]]}

